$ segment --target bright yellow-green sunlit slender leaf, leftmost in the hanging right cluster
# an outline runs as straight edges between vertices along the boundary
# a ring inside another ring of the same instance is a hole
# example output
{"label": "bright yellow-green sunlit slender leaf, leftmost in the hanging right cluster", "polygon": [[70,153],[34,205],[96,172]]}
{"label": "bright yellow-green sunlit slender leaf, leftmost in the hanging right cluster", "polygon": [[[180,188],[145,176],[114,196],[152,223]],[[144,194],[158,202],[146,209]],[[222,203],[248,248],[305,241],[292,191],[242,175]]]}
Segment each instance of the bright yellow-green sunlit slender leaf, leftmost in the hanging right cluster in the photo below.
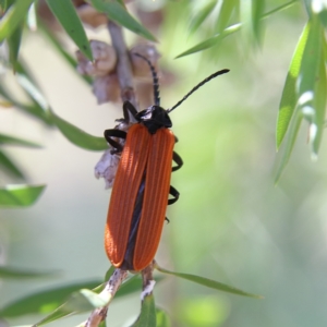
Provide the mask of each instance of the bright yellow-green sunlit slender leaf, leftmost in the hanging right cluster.
{"label": "bright yellow-green sunlit slender leaf, leftmost in the hanging right cluster", "polygon": [[279,149],[280,144],[288,131],[290,121],[292,119],[298,102],[296,81],[300,74],[300,68],[308,36],[308,31],[310,25],[307,23],[302,32],[302,35],[300,36],[283,86],[276,126],[277,149]]}

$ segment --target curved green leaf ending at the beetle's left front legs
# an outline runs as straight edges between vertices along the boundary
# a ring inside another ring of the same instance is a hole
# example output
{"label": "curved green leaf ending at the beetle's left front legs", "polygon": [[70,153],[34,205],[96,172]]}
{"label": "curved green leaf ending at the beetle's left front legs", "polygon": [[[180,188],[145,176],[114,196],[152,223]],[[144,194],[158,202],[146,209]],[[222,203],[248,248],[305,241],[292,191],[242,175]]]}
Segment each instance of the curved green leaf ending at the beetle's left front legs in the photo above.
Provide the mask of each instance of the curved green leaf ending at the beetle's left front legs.
{"label": "curved green leaf ending at the beetle's left front legs", "polygon": [[59,116],[51,112],[53,123],[60,130],[60,132],[73,144],[89,150],[104,150],[108,148],[108,144],[105,137],[97,137],[81,129],[74,126],[68,121],[61,119]]}

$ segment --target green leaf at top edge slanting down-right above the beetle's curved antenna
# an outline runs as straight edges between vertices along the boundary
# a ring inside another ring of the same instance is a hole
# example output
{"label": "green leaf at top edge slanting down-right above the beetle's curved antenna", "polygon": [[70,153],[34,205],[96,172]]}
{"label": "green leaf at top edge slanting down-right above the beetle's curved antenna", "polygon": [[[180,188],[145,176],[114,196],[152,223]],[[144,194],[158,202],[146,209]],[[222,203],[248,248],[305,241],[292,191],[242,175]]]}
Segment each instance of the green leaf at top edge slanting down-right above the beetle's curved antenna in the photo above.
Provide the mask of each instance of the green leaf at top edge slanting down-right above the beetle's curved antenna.
{"label": "green leaf at top edge slanting down-right above the beetle's curved antenna", "polygon": [[[56,1],[56,0],[55,0]],[[92,0],[94,8],[108,15],[109,20],[114,21],[121,26],[141,35],[149,40],[156,41],[156,38],[140,24],[126,9],[114,0]]]}

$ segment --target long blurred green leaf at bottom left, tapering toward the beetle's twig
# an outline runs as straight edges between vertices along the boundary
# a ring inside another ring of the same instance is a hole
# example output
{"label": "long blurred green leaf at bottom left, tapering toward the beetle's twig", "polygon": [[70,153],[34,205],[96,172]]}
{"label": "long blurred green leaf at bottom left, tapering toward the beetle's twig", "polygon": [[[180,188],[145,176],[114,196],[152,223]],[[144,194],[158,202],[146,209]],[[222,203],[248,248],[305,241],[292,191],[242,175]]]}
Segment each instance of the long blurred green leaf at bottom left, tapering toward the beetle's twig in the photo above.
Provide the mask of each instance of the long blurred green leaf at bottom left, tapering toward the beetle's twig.
{"label": "long blurred green leaf at bottom left, tapering toward the beetle's twig", "polygon": [[[17,317],[26,314],[49,313],[61,305],[71,293],[83,288],[93,289],[101,281],[99,280],[94,280],[89,282],[71,283],[64,287],[57,287],[50,290],[36,292],[8,304],[2,310],[0,310],[0,316]],[[57,316],[69,314],[64,312],[64,310],[62,310],[62,312],[60,312],[60,310],[57,310],[56,313]],[[53,313],[52,317],[55,316],[56,314]]]}

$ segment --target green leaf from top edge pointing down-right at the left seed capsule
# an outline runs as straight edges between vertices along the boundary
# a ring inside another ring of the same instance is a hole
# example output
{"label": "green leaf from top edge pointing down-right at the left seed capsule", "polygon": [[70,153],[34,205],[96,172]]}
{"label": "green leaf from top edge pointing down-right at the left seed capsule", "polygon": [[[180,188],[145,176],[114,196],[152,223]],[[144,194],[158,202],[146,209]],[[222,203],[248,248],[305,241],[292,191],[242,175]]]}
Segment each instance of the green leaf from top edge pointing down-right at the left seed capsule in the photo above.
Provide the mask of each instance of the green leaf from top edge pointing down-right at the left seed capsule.
{"label": "green leaf from top edge pointing down-right at the left seed capsule", "polygon": [[46,0],[55,16],[86,58],[93,60],[89,43],[72,1]]}

